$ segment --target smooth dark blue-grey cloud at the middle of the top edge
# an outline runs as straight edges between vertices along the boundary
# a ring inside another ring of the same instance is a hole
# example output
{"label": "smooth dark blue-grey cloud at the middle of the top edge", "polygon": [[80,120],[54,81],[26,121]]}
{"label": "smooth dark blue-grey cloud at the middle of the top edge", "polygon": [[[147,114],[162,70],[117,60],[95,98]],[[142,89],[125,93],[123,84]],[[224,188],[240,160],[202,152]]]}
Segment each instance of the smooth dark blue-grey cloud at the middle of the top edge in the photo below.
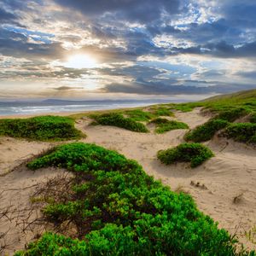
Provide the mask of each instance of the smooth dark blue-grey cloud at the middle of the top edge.
{"label": "smooth dark blue-grey cloud at the middle of the top edge", "polygon": [[61,6],[79,10],[84,15],[95,17],[111,13],[117,19],[131,21],[150,22],[160,18],[163,11],[168,14],[178,12],[179,0],[99,0],[99,1],[80,1],[80,0],[55,0]]}

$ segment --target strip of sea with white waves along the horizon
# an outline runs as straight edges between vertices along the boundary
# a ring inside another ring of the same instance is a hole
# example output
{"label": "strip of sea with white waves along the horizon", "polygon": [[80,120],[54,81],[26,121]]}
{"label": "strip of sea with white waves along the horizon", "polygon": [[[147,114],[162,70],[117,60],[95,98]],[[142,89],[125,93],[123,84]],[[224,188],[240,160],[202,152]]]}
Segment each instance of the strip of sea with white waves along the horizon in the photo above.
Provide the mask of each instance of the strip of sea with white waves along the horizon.
{"label": "strip of sea with white waves along the horizon", "polygon": [[[75,113],[92,110],[135,108],[167,103],[170,100],[97,100],[66,101],[49,99],[42,102],[0,102],[0,116],[33,115],[44,113]],[[173,101],[172,101],[173,102]]]}

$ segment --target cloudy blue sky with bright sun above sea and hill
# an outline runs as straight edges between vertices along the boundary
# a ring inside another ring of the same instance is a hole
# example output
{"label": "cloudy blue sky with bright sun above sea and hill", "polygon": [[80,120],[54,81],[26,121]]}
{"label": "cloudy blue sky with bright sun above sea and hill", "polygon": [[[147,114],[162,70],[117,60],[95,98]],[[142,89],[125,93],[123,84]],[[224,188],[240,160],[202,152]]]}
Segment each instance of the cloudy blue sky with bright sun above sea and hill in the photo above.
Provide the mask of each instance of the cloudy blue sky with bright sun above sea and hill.
{"label": "cloudy blue sky with bright sun above sea and hill", "polygon": [[256,88],[254,0],[1,0],[0,99]]}

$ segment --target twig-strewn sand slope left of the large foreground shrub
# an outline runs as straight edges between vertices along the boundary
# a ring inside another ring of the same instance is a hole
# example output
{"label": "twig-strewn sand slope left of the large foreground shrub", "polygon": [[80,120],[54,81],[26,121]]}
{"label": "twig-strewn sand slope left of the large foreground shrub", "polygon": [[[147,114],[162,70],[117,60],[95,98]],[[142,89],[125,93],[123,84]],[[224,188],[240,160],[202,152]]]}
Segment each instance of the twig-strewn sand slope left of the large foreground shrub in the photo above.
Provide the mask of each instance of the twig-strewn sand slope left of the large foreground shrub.
{"label": "twig-strewn sand slope left of the large foreground shrub", "polygon": [[38,184],[63,172],[53,168],[32,172],[23,167],[0,177],[0,217],[6,211],[5,216],[0,218],[0,236],[7,233],[0,239],[0,245],[6,246],[4,253],[12,255],[36,236],[43,234],[43,226],[32,224],[33,220],[41,217],[41,212],[39,209],[32,209],[31,195]]}

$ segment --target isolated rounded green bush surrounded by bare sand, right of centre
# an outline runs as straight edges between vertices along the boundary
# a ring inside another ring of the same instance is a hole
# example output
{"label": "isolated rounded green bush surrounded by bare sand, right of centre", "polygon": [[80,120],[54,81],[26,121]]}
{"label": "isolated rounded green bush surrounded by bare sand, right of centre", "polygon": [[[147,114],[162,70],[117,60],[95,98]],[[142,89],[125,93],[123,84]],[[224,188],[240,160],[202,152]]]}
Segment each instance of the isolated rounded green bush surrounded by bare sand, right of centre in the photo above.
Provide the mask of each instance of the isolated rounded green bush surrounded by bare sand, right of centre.
{"label": "isolated rounded green bush surrounded by bare sand, right of centre", "polygon": [[182,143],[175,148],[160,150],[157,157],[166,165],[190,162],[191,167],[196,167],[213,155],[212,151],[201,143]]}

